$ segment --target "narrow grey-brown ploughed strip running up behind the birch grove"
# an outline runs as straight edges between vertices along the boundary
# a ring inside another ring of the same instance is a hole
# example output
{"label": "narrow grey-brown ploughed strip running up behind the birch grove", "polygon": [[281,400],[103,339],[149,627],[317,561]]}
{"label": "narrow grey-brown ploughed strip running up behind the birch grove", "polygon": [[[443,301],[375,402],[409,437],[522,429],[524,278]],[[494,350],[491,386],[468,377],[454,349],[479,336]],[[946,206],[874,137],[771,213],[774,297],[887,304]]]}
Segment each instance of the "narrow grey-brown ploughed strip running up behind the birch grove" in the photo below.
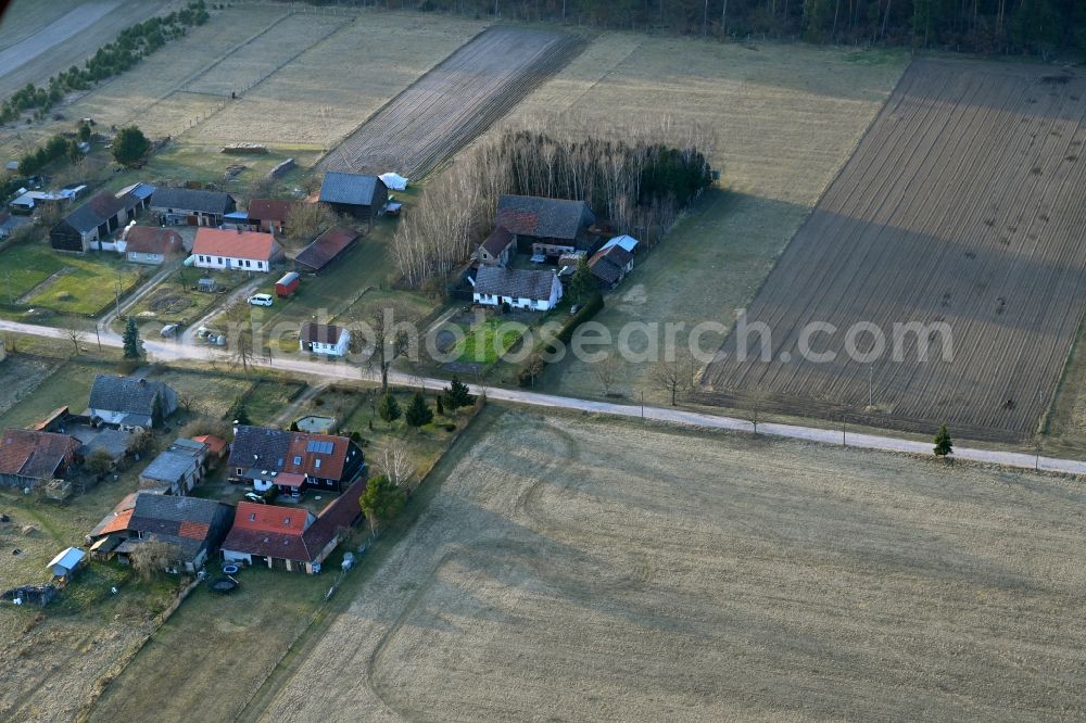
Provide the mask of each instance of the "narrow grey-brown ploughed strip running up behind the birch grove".
{"label": "narrow grey-brown ploughed strip running up behind the birch grove", "polygon": [[320,166],[425,176],[583,48],[580,36],[490,28],[382,107]]}

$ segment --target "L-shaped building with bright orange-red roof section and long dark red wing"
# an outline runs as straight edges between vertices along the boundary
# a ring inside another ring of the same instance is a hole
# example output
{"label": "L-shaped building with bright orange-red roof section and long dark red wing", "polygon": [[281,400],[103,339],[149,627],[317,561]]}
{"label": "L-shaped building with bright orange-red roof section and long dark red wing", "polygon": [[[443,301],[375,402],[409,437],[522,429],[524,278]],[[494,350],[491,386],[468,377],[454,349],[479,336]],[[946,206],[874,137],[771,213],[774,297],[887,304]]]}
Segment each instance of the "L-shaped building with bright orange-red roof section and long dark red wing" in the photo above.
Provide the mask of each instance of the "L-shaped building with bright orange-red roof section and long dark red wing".
{"label": "L-shaped building with bright orange-red roof section and long dark red wing", "polygon": [[319,515],[299,507],[239,503],[230,534],[223,541],[227,562],[261,565],[291,572],[320,572],[320,566],[362,519],[357,480]]}

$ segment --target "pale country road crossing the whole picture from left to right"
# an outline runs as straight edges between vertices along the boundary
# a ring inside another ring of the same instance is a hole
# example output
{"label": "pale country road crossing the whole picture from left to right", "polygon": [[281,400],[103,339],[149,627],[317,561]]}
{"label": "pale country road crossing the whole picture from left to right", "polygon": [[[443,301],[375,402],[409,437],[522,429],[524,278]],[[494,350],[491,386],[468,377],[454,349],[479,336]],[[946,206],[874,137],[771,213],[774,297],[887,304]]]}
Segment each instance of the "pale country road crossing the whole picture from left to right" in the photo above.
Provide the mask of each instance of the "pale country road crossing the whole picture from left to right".
{"label": "pale country road crossing the whole picture from left to right", "polygon": [[[13,331],[17,333],[43,337],[68,341],[67,334],[62,329],[52,327],[41,327],[31,324],[20,324],[17,321],[0,320],[0,331]],[[121,339],[115,335],[102,338],[105,346],[121,346]],[[209,362],[225,362],[228,355],[218,348],[203,345],[190,345],[171,341],[144,340],[143,348],[148,357],[153,362],[177,362],[182,359],[204,359]],[[254,366],[293,371],[308,377],[317,377],[324,380],[374,380],[374,375],[368,370],[344,363],[314,362],[307,359],[274,358],[269,365],[266,359],[253,363]],[[418,378],[413,375],[402,372],[390,372],[389,381],[397,385],[425,384],[432,389],[444,386],[447,382],[443,379]],[[471,391],[478,393],[485,391],[487,396],[501,402],[515,402],[538,407],[553,407],[558,409],[572,409],[577,411],[589,411],[594,414],[611,415],[616,417],[642,417],[673,424],[685,424],[690,427],[704,427],[708,429],[722,429],[736,432],[754,432],[754,426],[745,419],[735,417],[722,417],[699,411],[686,411],[668,407],[641,407],[640,405],[615,404],[611,402],[593,402],[591,399],[578,399],[556,394],[539,394],[517,389],[504,389],[500,386],[476,386],[470,385]],[[767,436],[780,436],[792,440],[806,440],[820,444],[842,444],[842,432],[832,429],[819,429],[815,427],[801,427],[798,424],[779,424],[762,422],[758,424],[758,433]],[[861,447],[866,449],[879,449],[883,452],[904,452],[929,456],[932,454],[932,444],[929,442],[915,442],[902,440],[894,436],[883,436],[880,434],[848,433],[846,441],[850,447]],[[1086,474],[1086,461],[1076,459],[1061,459],[1057,457],[1038,457],[1036,455],[1023,454],[1020,452],[1003,452],[998,449],[976,449],[967,446],[955,446],[954,456],[957,459],[970,461],[988,462],[994,465],[1005,465],[1007,467],[1019,467],[1024,469],[1041,469],[1051,472],[1063,472],[1069,474]]]}

